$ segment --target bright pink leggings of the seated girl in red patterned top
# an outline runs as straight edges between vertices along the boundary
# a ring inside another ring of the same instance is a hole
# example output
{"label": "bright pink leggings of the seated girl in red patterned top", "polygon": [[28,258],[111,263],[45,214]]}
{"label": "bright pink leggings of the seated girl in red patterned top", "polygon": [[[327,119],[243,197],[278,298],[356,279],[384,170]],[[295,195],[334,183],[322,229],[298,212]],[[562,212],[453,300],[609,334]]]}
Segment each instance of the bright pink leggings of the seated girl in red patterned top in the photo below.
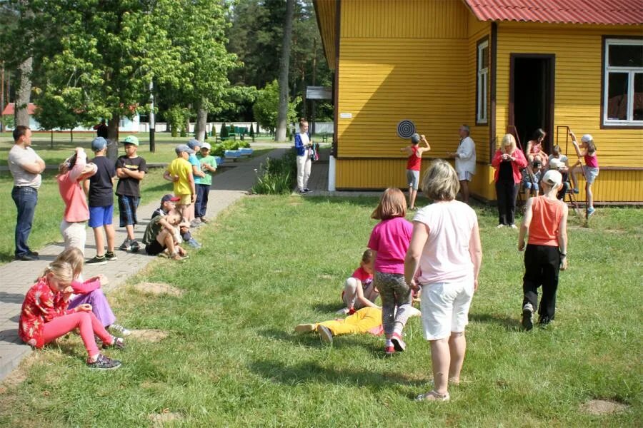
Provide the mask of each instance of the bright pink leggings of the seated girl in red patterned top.
{"label": "bright pink leggings of the seated girl in red patterned top", "polygon": [[66,335],[71,332],[71,330],[74,330],[74,328],[80,329],[81,337],[83,338],[89,357],[93,357],[99,353],[94,335],[98,336],[103,343],[111,343],[112,340],[114,340],[98,318],[96,318],[94,312],[75,312],[45,322],[42,327],[42,339],[44,343],[49,343],[62,335]]}

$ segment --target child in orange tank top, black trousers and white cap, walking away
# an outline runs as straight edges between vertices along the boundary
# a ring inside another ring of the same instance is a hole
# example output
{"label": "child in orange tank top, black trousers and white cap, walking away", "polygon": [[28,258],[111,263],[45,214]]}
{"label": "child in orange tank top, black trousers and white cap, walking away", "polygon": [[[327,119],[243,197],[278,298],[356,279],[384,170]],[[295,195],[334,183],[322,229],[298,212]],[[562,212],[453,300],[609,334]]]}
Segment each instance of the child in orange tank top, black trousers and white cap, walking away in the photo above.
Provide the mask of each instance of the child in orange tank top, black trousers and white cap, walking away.
{"label": "child in orange tank top, black trousers and white cap, walking away", "polygon": [[541,196],[529,198],[518,235],[518,250],[525,250],[524,238],[529,233],[524,252],[522,278],[522,326],[534,327],[534,308],[538,303],[538,287],[542,298],[538,308],[539,324],[554,320],[559,270],[567,269],[567,204],[556,198],[562,187],[562,175],[548,170],[542,177]]}

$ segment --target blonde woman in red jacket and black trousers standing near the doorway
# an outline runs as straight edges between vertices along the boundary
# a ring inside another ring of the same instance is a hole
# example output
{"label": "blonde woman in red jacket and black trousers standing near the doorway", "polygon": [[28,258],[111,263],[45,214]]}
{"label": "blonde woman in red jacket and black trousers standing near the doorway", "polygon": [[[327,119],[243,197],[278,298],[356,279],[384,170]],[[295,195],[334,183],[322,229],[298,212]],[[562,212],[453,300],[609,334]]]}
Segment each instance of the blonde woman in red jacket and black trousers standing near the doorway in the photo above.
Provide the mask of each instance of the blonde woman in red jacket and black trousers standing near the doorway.
{"label": "blonde woman in red jacket and black trousers standing near the doorway", "polygon": [[506,134],[502,138],[502,144],[494,155],[492,166],[496,168],[494,180],[498,199],[498,227],[510,226],[517,229],[514,223],[516,197],[522,179],[520,171],[527,167],[527,159],[524,158],[522,151],[516,148],[516,139],[512,134]]}

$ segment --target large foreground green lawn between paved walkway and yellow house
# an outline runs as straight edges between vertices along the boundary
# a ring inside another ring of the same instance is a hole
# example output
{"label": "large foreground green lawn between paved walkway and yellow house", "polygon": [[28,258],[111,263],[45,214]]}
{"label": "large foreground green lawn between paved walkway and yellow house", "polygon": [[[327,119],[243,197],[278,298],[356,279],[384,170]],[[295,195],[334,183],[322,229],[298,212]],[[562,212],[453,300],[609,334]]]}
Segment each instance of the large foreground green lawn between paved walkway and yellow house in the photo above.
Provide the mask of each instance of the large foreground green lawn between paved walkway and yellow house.
{"label": "large foreground green lawn between paved walkway and yellow house", "polygon": [[[519,330],[517,232],[478,207],[484,260],[467,330],[464,383],[449,403],[415,403],[430,389],[420,320],[407,352],[384,359],[380,337],[295,335],[334,318],[344,278],[375,221],[373,198],[257,196],[199,229],[204,248],[181,264],[158,260],[130,284],[168,282],[180,297],[109,295],[122,324],[169,333],[129,340],[114,372],[84,366],[78,337],[37,351],[0,394],[0,425],[141,427],[154,415],[206,426],[623,427],[643,417],[643,210],[601,208],[592,228],[570,221],[569,270],[557,319]],[[410,216],[409,216],[410,217]],[[24,382],[18,382],[20,374]],[[592,416],[590,399],[627,404]],[[637,422],[639,421],[639,422]]]}

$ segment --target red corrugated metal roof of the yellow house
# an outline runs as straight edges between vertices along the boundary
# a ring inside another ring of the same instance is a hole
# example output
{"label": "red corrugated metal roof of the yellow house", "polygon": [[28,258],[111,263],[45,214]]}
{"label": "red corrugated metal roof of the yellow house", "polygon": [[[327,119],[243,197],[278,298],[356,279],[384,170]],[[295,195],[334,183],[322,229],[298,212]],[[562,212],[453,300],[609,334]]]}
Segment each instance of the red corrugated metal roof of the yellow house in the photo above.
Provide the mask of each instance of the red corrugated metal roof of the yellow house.
{"label": "red corrugated metal roof of the yellow house", "polygon": [[643,24],[641,0],[464,0],[479,21]]}

